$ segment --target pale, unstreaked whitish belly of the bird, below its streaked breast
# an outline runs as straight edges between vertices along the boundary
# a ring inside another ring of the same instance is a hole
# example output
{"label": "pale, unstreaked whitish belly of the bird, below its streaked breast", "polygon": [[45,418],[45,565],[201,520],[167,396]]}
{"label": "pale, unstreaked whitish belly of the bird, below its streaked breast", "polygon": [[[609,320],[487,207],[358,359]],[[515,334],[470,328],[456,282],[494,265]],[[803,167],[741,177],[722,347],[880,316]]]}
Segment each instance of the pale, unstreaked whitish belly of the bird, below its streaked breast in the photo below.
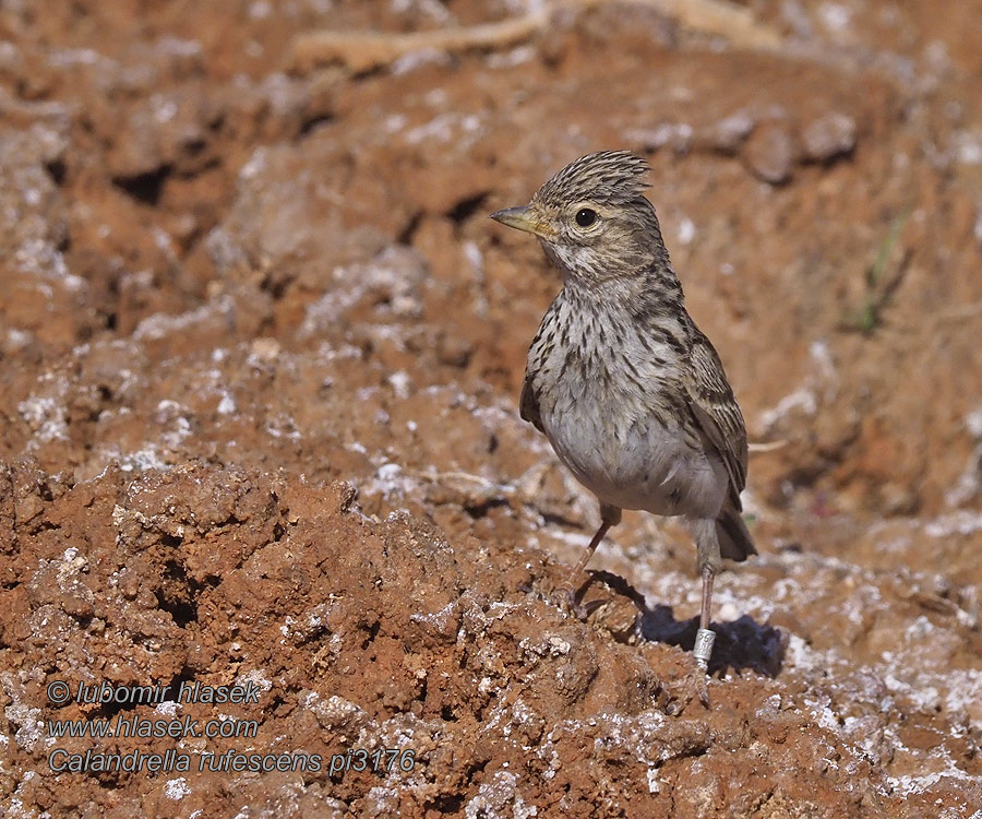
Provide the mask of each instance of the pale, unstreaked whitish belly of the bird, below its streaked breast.
{"label": "pale, unstreaked whitish belly of the bird, below its streaked breast", "polygon": [[679,424],[621,416],[618,410],[624,408],[580,399],[559,413],[543,413],[542,426],[560,460],[602,502],[715,518],[728,483],[719,456],[688,442]]}

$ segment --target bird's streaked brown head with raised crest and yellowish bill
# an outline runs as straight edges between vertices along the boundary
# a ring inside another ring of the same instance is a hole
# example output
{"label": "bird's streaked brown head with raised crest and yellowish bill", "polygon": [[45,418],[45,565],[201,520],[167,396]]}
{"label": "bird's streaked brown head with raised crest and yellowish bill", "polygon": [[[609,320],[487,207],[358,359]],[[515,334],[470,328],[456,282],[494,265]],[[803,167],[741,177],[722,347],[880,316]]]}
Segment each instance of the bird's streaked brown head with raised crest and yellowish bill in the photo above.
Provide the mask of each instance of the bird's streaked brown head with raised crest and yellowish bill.
{"label": "bird's streaked brown head with raised crest and yellowish bill", "polygon": [[564,277],[596,284],[636,276],[668,262],[655,209],[644,195],[648,170],[627,151],[589,154],[552,177],[527,205],[491,218],[538,236]]}

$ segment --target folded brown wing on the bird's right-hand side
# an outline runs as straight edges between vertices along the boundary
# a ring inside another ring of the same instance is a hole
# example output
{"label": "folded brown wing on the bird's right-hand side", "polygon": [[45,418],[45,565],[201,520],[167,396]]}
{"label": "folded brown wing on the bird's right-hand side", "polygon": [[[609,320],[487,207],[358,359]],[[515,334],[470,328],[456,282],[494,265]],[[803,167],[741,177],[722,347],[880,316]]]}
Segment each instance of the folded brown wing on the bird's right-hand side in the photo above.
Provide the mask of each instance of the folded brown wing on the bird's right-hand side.
{"label": "folded brown wing on the bird's right-hand side", "polygon": [[703,434],[722,458],[740,509],[740,492],[746,486],[746,427],[719,355],[698,330],[693,337],[685,390]]}

